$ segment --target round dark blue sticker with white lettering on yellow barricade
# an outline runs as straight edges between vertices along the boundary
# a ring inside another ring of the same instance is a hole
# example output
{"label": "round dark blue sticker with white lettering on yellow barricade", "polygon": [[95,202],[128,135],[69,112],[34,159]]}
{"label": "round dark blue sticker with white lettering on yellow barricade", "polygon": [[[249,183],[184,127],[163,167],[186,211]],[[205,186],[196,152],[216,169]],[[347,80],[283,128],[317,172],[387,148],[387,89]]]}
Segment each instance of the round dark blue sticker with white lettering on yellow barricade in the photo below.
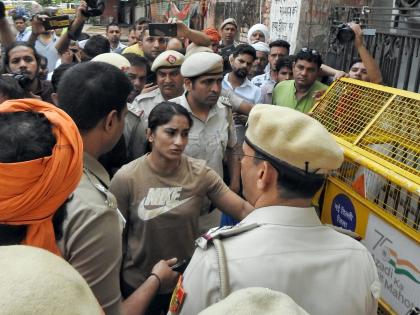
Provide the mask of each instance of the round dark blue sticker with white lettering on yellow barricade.
{"label": "round dark blue sticker with white lettering on yellow barricade", "polygon": [[331,204],[331,219],[335,226],[355,231],[356,211],[349,197],[344,194],[338,194],[334,197]]}

